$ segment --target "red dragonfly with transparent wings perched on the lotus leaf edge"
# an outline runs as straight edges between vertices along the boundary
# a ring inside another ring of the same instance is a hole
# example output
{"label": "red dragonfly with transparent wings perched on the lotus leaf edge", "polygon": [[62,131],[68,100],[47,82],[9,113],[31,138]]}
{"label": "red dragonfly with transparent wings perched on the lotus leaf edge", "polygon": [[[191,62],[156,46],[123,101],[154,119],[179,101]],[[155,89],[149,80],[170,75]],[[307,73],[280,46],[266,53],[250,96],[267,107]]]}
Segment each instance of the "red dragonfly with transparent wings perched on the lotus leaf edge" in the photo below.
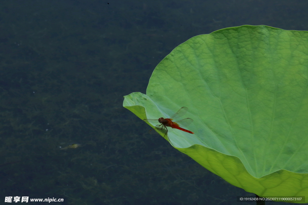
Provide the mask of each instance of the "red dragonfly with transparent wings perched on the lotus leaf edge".
{"label": "red dragonfly with transparent wings perched on the lotus leaf edge", "polygon": [[[185,118],[183,120],[178,120],[178,121],[172,121],[176,118],[179,118],[181,116],[183,116],[186,112],[187,112],[188,108],[186,107],[182,107],[181,109],[179,109],[179,111],[177,111],[174,115],[172,115],[170,118],[159,118],[157,120],[152,120],[152,119],[144,119],[145,122],[152,122],[152,123],[160,123],[160,125],[156,125],[155,129],[160,129],[162,130],[163,128],[166,129],[166,133],[164,136],[166,136],[167,132],[168,132],[168,128],[170,129],[169,132],[175,130],[175,129],[179,129],[182,130],[184,132],[188,132],[190,134],[194,134],[193,132],[183,129],[182,127],[186,127],[188,126],[190,123],[193,122],[193,119],[191,118]],[[170,142],[170,140],[169,140]]]}

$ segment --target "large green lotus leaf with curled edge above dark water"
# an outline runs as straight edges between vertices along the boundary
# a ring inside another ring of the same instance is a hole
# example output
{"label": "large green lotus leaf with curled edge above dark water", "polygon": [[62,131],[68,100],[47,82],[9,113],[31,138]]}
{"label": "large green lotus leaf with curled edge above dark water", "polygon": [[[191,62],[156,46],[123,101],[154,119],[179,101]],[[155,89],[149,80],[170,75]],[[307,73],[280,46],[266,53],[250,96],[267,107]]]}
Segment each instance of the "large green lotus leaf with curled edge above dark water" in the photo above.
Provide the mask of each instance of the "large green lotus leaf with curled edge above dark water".
{"label": "large green lotus leaf with curled edge above dark water", "polygon": [[259,196],[308,196],[307,31],[246,25],[193,37],[123,106],[140,119],[188,107],[194,134],[169,132],[176,149]]}

